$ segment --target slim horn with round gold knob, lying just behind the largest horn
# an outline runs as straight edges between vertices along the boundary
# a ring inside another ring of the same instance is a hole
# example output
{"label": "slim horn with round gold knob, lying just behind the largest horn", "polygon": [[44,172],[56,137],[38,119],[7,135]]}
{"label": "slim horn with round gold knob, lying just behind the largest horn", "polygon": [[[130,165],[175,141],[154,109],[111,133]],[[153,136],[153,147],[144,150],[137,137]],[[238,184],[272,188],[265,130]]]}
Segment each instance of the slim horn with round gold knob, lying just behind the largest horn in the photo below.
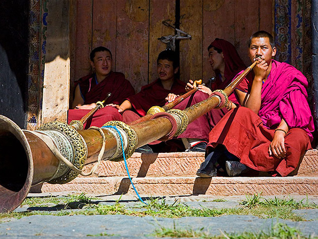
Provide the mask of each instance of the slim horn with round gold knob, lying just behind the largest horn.
{"label": "slim horn with round gold knob, lying just behind the largest horn", "polygon": [[[182,96],[176,97],[174,101],[159,107],[159,106],[153,106],[151,107],[146,116],[143,116],[140,119],[137,119],[135,121],[132,121],[130,123],[128,123],[128,125],[132,125],[132,124],[136,124],[136,123],[141,123],[144,121],[147,121],[149,119],[151,119],[155,114],[160,113],[160,112],[167,112],[168,110],[172,109],[173,107],[175,107],[176,105],[180,104],[182,101],[184,101],[186,98],[188,98],[189,96],[191,96],[192,94],[196,93],[199,89],[197,88],[197,84],[201,85],[202,84],[202,79],[194,81],[193,82],[193,89],[190,90],[189,92],[183,94]],[[204,84],[202,84],[204,85]]]}

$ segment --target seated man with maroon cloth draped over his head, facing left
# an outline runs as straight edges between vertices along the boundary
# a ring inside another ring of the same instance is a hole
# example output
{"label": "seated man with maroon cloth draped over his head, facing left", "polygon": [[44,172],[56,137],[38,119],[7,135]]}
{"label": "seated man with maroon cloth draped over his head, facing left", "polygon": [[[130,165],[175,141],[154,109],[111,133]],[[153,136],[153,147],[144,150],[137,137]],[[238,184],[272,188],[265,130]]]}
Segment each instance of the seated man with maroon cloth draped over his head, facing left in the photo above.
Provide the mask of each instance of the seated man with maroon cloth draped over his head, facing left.
{"label": "seated man with maroon cloth draped over his head, facing left", "polygon": [[[212,94],[212,91],[221,89],[224,90],[233,80],[233,78],[241,71],[246,69],[243,61],[239,57],[239,53],[234,45],[230,42],[216,38],[208,47],[209,63],[215,72],[215,77],[211,78],[207,86],[199,85],[198,91],[184,100],[175,109],[184,110],[196,103],[206,100]],[[187,84],[186,91],[193,88],[192,81]],[[234,94],[231,94],[229,99],[233,102],[233,107],[239,106],[239,96],[244,97],[242,92],[247,92],[247,82],[241,82]],[[168,102],[174,100],[176,96],[170,94],[167,98]],[[187,129],[178,136],[182,138],[185,145],[185,151],[204,152],[209,139],[209,132],[222,119],[228,109],[213,109],[203,116],[189,123]]]}

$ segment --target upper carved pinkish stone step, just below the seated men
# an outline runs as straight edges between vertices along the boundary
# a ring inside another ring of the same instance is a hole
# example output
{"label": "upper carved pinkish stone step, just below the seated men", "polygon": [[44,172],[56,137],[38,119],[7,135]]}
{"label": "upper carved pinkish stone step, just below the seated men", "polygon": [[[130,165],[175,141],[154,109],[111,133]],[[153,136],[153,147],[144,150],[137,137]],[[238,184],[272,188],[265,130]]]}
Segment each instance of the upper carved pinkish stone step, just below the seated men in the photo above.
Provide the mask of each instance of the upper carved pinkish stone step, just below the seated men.
{"label": "upper carved pinkish stone step, just below the seated men", "polygon": [[[203,161],[203,152],[134,153],[127,160],[127,165],[130,175],[134,177],[195,176]],[[84,171],[89,172],[93,164],[86,165]],[[126,175],[124,161],[102,161],[92,177],[124,177]],[[297,176],[318,176],[318,150],[307,151]]]}

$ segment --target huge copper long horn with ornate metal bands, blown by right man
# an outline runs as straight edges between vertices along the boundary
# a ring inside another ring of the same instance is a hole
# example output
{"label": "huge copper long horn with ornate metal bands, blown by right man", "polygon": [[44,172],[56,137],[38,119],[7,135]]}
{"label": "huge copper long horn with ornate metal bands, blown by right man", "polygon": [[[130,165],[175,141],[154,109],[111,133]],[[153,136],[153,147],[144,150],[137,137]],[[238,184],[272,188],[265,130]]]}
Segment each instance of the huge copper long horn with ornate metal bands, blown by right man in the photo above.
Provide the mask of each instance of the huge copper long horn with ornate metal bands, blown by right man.
{"label": "huge copper long horn with ornate metal bands, blown by right man", "polygon": [[[66,123],[53,121],[43,124],[39,130],[29,131],[21,130],[12,120],[0,116],[0,212],[18,207],[31,186],[72,181],[84,164],[96,161],[97,156],[97,162],[100,159],[120,161],[122,146],[129,158],[137,147],[182,133],[194,119],[228,104],[227,96],[255,64],[224,91],[214,92],[205,101],[184,111],[172,109],[159,113],[155,119],[130,126],[121,121],[109,121],[106,128],[77,131]],[[67,166],[69,164],[72,169]]]}

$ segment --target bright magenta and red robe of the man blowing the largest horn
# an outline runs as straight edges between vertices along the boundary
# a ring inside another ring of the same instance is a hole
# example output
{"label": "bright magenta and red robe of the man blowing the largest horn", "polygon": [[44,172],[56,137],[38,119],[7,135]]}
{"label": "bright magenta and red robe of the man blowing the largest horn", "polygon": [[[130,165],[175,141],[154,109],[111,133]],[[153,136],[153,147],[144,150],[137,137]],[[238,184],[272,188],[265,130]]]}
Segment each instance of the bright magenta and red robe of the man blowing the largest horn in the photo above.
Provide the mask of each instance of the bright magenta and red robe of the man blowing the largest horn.
{"label": "bright magenta and red robe of the man blowing the largest horn", "polygon": [[[223,144],[244,165],[273,176],[297,173],[300,159],[311,148],[314,121],[307,102],[306,77],[291,65],[272,60],[270,75],[262,86],[261,107],[256,115],[248,108],[230,111],[212,129],[210,147]],[[286,157],[269,156],[274,129],[285,119]]]}

